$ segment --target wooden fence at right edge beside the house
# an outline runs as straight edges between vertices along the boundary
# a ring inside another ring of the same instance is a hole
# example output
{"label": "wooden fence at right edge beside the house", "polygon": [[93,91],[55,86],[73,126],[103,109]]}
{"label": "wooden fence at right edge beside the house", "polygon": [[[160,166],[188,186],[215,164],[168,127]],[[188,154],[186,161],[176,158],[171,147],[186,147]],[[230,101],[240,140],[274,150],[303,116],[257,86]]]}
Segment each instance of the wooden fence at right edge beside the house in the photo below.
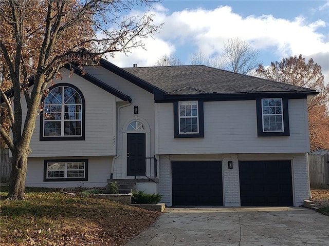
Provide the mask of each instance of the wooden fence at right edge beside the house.
{"label": "wooden fence at right edge beside the house", "polygon": [[327,187],[329,185],[329,154],[308,154],[308,165],[310,187]]}

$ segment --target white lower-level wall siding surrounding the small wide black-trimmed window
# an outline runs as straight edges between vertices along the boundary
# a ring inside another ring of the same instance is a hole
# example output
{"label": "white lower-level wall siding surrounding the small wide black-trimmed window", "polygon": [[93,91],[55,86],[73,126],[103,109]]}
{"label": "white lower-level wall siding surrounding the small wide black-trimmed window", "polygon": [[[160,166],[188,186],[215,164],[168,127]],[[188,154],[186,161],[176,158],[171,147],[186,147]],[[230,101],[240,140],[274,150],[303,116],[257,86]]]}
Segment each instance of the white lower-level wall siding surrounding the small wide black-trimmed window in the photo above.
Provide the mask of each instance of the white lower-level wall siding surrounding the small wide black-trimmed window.
{"label": "white lower-level wall siding surrounding the small wide black-trimmed window", "polygon": [[28,187],[105,187],[111,173],[111,156],[81,156],[81,157],[57,157],[46,159],[88,159],[87,181],[43,181],[44,158],[29,158],[27,164],[26,186]]}

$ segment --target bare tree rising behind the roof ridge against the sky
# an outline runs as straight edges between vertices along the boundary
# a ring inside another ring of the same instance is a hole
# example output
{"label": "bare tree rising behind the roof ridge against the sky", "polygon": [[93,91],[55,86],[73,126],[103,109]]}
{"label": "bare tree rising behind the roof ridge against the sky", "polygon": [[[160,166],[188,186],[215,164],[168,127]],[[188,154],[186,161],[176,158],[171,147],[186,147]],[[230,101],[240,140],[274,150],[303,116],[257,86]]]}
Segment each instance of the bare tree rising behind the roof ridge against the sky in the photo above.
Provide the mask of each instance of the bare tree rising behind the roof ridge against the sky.
{"label": "bare tree rising behind the roof ridge against the sky", "polygon": [[234,73],[250,74],[261,61],[259,52],[240,38],[229,39],[223,48],[224,68]]}

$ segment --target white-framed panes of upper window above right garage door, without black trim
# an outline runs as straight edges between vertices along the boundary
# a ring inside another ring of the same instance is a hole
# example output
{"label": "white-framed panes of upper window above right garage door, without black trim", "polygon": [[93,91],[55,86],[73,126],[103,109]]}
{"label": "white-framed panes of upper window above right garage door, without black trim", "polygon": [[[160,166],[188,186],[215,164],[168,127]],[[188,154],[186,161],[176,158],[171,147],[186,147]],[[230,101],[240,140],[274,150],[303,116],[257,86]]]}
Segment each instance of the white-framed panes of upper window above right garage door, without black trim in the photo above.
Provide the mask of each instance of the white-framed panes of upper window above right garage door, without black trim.
{"label": "white-framed panes of upper window above right garage door, without black trim", "polygon": [[283,132],[282,98],[262,99],[263,132]]}

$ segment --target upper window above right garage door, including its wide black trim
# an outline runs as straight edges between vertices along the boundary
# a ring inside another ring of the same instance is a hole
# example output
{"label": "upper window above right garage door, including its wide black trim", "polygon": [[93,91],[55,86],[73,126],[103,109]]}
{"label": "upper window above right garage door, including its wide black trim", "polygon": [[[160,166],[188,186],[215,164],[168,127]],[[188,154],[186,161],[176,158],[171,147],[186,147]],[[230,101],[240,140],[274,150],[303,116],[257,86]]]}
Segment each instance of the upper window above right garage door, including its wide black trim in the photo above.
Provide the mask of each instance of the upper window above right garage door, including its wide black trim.
{"label": "upper window above right garage door, including its wide black trim", "polygon": [[258,136],[289,136],[288,100],[257,99]]}

